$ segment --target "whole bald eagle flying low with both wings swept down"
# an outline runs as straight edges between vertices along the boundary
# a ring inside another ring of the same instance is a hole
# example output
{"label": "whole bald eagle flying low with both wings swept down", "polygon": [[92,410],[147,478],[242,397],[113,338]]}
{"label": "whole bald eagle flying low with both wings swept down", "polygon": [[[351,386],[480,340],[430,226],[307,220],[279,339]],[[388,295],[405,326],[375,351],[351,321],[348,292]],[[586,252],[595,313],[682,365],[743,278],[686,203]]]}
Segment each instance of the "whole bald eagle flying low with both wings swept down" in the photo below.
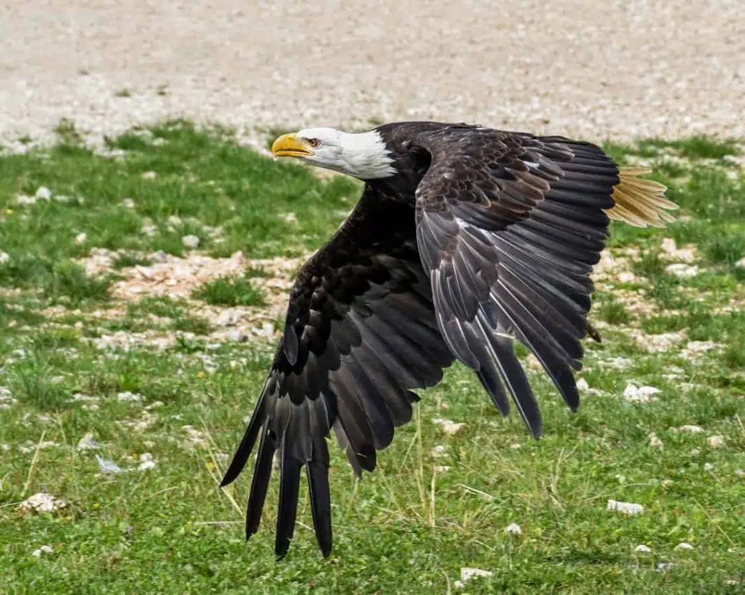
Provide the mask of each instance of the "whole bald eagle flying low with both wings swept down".
{"label": "whole bald eagle flying low with both wings swept down", "polygon": [[599,340],[587,319],[590,273],[609,219],[661,227],[676,205],[662,184],[638,177],[645,170],[618,167],[594,144],[463,123],[305,129],[277,138],[272,152],[353,176],[364,190],[297,275],[273,364],[221,485],[235,480],[258,440],[249,538],[277,454],[281,558],[305,467],[328,556],[330,431],[358,477],[372,472],[393,428],[411,419],[413,390],[437,385],[457,359],[501,414],[511,399],[539,438],[541,414],[513,342],[536,356],[576,411],[580,339]]}

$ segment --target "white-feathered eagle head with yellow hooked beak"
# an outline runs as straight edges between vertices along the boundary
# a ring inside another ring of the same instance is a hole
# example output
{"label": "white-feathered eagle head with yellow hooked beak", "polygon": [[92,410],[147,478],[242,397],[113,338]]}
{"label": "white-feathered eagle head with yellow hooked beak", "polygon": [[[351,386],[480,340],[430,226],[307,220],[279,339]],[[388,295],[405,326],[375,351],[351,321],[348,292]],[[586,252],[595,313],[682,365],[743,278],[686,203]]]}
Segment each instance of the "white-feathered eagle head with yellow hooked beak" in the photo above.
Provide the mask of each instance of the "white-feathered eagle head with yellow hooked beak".
{"label": "white-feathered eagle head with yellow hooked beak", "polygon": [[394,156],[377,130],[349,133],[334,128],[303,129],[277,138],[272,154],[275,158],[301,159],[360,180],[396,175]]}

